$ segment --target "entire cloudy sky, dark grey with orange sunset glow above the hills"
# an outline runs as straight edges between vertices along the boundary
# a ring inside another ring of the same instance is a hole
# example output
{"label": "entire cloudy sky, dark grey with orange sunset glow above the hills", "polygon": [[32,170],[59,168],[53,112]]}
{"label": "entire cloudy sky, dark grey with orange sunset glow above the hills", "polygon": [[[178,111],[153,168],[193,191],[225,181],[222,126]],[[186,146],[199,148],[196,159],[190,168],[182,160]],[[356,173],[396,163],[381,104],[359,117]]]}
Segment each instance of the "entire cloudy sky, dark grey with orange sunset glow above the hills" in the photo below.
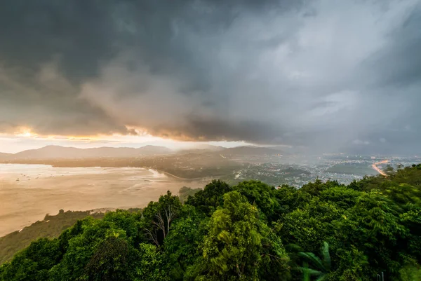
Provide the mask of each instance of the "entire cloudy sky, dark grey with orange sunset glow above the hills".
{"label": "entire cloudy sky, dark grey with orange sunset glow above the hills", "polygon": [[0,0],[0,151],[420,153],[420,0]]}

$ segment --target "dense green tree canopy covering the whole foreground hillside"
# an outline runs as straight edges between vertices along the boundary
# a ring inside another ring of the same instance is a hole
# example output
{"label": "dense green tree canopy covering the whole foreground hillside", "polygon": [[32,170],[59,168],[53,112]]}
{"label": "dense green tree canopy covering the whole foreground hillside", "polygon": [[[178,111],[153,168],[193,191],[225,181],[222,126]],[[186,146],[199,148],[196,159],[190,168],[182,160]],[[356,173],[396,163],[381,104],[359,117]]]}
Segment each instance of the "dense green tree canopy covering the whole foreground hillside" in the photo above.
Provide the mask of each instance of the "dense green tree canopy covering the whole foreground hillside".
{"label": "dense green tree canopy covering the whole foreground hillside", "polygon": [[349,186],[212,181],[36,240],[0,280],[421,280],[420,188],[421,165]]}

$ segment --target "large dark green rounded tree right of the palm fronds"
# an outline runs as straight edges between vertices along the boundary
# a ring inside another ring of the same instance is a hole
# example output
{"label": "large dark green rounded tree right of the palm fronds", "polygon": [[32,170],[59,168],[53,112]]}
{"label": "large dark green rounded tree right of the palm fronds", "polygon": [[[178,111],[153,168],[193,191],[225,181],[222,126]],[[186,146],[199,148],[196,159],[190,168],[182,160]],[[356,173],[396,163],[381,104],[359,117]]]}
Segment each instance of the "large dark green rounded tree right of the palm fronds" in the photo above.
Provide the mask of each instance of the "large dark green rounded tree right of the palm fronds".
{"label": "large dark green rounded tree right of the palm fronds", "polygon": [[333,240],[345,249],[354,246],[370,261],[370,277],[387,271],[396,275],[401,267],[399,252],[407,247],[408,228],[401,222],[399,205],[394,204],[379,191],[363,193],[356,205],[349,208],[333,224]]}

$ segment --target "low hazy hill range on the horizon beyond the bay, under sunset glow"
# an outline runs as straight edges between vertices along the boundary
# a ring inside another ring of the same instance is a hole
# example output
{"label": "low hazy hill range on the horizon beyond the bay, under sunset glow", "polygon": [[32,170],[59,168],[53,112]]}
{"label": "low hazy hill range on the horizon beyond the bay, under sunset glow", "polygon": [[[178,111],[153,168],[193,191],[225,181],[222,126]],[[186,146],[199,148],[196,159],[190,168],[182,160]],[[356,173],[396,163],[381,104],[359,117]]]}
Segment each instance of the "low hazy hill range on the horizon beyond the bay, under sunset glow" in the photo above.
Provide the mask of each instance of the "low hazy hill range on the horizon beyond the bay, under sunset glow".
{"label": "low hazy hill range on the horizon beyond the bay, under sunset glow", "polygon": [[131,147],[98,147],[94,149],[77,149],[65,146],[44,146],[41,149],[30,149],[11,154],[7,158],[22,159],[54,159],[54,158],[99,158],[99,157],[136,157],[163,155],[172,153],[164,146],[143,146],[138,149]]}

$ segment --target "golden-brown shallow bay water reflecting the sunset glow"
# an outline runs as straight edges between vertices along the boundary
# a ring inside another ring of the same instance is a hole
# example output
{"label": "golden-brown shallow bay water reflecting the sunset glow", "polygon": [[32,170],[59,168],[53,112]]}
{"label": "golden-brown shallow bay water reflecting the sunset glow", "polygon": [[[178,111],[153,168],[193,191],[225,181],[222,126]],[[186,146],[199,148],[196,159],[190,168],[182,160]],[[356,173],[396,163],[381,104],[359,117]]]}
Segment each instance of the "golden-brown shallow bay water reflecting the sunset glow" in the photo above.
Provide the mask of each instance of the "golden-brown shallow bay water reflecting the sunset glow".
{"label": "golden-brown shallow bay water reflecting the sunset glow", "polygon": [[0,164],[0,236],[60,209],[145,207],[168,190],[205,184],[134,167]]}

